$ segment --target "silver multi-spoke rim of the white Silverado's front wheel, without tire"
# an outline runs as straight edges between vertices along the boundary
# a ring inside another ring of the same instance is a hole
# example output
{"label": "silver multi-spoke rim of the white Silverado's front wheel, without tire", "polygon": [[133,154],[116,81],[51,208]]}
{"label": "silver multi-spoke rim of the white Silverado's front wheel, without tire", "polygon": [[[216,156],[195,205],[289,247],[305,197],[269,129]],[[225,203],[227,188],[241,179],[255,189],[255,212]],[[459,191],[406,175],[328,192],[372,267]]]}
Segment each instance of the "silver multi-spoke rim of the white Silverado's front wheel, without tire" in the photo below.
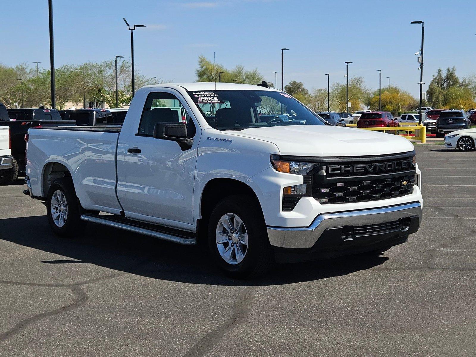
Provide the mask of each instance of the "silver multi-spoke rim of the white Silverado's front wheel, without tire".
{"label": "silver multi-spoke rim of the white Silverado's front wheel, without tire", "polygon": [[218,253],[228,264],[238,264],[248,251],[248,231],[234,213],[223,215],[217,225],[216,242]]}

